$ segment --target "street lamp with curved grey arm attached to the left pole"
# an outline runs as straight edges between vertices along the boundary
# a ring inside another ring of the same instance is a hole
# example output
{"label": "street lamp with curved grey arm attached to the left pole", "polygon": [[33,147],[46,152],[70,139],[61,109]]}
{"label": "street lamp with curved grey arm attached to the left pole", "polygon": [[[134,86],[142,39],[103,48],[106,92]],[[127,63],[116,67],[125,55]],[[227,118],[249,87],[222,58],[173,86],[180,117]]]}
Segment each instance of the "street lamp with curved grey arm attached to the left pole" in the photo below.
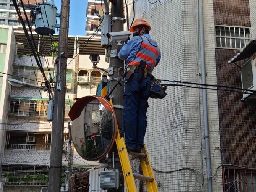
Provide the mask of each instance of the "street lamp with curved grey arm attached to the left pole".
{"label": "street lamp with curved grey arm attached to the left pole", "polygon": [[36,87],[36,88],[39,88],[39,89],[47,90],[47,91],[50,93],[50,100],[49,100],[48,109],[47,109],[47,121],[52,121],[52,120],[53,120],[54,100],[53,100],[53,93],[52,93],[52,90],[50,90],[50,89],[47,88],[47,87],[42,87],[42,86],[33,85],[33,84],[30,84],[30,83],[26,83],[26,82],[23,82],[23,81],[19,81],[19,80],[17,80],[17,79],[11,79],[11,78],[9,78],[9,79],[8,79],[8,82],[9,82],[12,86],[15,86],[15,87],[30,86],[30,87]]}

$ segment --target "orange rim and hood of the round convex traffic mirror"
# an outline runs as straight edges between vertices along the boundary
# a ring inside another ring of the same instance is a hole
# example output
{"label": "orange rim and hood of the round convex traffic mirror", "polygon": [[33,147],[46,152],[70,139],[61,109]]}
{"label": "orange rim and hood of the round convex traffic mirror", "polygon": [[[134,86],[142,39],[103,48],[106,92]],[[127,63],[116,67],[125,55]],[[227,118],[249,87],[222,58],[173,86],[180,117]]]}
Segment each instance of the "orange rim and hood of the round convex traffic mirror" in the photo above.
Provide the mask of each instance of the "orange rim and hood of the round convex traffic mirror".
{"label": "orange rim and hood of the round convex traffic mirror", "polygon": [[[78,118],[84,107],[90,103],[91,101],[93,100],[99,100],[100,103],[102,103],[102,105],[104,105],[105,108],[107,108],[110,112],[112,112],[113,114],[113,123],[114,123],[114,130],[113,130],[113,136],[112,136],[112,139],[111,139],[111,142],[110,142],[110,145],[109,145],[109,148],[102,154],[100,155],[98,158],[95,158],[95,159],[86,159],[83,155],[81,155],[78,150],[76,150],[76,152],[85,160],[87,161],[98,161],[102,158],[104,158],[107,153],[110,152],[110,150],[112,149],[113,147],[113,144],[115,142],[115,138],[117,136],[117,116],[115,114],[115,110],[114,108],[112,107],[112,105],[109,103],[109,101],[104,98],[104,97],[100,97],[99,95],[94,95],[94,96],[85,96],[85,97],[82,97],[80,99],[78,99],[74,105],[71,107],[69,113],[68,113],[68,116],[70,117],[71,121],[75,120],[76,118]],[[73,136],[72,134],[72,130],[74,129],[75,127],[71,127],[71,136]],[[73,140],[73,137],[72,137],[72,140]],[[75,147],[76,148],[76,147]]]}

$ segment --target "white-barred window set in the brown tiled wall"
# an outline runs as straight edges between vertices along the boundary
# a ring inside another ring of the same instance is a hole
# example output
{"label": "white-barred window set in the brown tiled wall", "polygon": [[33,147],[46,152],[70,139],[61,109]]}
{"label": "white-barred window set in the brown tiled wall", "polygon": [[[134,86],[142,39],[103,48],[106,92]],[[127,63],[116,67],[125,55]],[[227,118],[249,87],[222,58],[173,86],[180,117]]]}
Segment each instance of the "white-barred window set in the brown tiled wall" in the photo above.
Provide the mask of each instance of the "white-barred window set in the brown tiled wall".
{"label": "white-barred window set in the brown tiled wall", "polygon": [[215,26],[216,47],[241,49],[250,41],[248,27]]}

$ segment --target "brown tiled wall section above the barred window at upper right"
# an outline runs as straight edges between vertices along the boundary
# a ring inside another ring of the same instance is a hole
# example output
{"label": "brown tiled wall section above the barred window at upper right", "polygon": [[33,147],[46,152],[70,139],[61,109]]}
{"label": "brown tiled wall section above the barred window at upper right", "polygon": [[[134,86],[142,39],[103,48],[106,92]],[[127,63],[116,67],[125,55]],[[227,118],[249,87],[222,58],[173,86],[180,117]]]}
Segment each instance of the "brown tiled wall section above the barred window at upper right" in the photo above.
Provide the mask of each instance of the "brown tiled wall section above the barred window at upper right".
{"label": "brown tiled wall section above the barred window at upper right", "polygon": [[213,0],[214,24],[251,26],[249,0]]}

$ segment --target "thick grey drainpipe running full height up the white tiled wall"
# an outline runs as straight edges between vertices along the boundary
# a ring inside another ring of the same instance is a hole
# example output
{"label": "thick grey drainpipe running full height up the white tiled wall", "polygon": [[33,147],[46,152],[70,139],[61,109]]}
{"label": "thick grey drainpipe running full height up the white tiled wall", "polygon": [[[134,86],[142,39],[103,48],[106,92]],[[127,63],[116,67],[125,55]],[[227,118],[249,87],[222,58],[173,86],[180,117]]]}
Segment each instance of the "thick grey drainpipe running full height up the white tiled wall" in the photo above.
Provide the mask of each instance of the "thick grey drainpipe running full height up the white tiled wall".
{"label": "thick grey drainpipe running full height up the white tiled wall", "polygon": [[[203,2],[199,0],[199,28],[200,28],[200,50],[201,50],[201,72],[202,83],[206,84],[205,72],[205,53],[204,53],[204,23],[203,23]],[[203,86],[205,87],[205,86]],[[206,153],[206,171],[207,171],[207,187],[208,192],[212,192],[212,173],[211,173],[211,151],[208,127],[208,109],[207,109],[207,93],[206,89],[202,90],[203,97],[203,116],[204,116],[204,140],[205,140],[205,153]]]}

